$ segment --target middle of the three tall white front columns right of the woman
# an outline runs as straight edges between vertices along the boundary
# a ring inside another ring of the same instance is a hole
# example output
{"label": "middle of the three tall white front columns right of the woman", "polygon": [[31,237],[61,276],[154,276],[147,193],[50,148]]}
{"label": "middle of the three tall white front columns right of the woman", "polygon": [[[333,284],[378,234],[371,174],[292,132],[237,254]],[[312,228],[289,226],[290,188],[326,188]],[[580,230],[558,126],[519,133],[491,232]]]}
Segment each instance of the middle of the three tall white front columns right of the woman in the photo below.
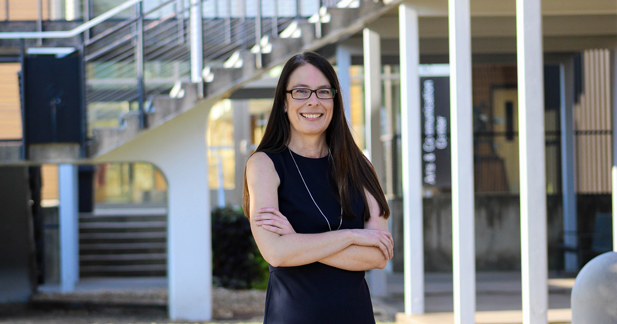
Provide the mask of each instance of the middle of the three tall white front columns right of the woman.
{"label": "middle of the three tall white front columns right of the woman", "polygon": [[470,1],[449,0],[448,19],[454,321],[465,324],[476,312]]}

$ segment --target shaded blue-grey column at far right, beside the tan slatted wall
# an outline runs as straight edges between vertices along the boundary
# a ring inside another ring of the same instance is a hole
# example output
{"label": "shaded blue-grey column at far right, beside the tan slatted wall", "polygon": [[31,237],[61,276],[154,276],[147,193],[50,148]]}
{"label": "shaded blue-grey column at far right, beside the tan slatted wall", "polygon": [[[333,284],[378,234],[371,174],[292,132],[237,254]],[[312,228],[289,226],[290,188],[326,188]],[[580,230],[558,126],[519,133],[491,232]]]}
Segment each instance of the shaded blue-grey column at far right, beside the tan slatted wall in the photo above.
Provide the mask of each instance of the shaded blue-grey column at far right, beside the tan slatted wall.
{"label": "shaded blue-grey column at far right, beside the tan slatted wall", "polygon": [[[563,243],[578,246],[576,234],[576,152],[574,151],[574,59],[561,63],[561,196],[563,197]],[[564,252],[565,270],[578,272],[578,254]]]}

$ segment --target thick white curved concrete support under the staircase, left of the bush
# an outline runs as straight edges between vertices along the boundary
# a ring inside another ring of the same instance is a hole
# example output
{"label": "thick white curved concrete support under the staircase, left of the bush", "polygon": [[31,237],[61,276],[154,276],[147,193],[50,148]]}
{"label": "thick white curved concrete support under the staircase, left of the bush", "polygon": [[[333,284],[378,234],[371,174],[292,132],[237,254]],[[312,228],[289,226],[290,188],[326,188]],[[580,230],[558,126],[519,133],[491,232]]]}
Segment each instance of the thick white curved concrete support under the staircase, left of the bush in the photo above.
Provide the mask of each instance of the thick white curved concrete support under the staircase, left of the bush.
{"label": "thick white curved concrete support under the staircase, left of the bush", "polygon": [[207,322],[212,318],[212,233],[205,141],[208,110],[195,107],[95,161],[147,161],[165,175],[168,312],[172,321]]}

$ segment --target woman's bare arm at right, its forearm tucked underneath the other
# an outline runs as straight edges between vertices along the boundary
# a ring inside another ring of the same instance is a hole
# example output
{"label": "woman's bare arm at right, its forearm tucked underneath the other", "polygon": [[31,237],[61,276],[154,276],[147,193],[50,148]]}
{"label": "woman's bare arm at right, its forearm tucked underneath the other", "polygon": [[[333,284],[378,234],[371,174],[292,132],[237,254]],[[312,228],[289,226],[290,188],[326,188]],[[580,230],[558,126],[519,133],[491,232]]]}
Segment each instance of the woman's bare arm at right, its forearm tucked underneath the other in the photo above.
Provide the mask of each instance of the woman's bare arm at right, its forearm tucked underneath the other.
{"label": "woman's bare arm at right, its forearm tucked underneath the other", "polygon": [[[371,217],[364,223],[364,228],[387,231],[387,220],[379,216],[379,206],[375,197],[366,190],[365,194],[366,197],[368,197],[368,207]],[[394,241],[391,235],[389,235],[389,239],[391,240],[390,249],[393,249]],[[386,255],[384,255],[378,247],[350,245],[341,252],[329,255],[319,260],[319,262],[344,270],[363,271],[375,268],[383,269],[386,267],[387,260],[391,258],[392,256],[386,259]]]}

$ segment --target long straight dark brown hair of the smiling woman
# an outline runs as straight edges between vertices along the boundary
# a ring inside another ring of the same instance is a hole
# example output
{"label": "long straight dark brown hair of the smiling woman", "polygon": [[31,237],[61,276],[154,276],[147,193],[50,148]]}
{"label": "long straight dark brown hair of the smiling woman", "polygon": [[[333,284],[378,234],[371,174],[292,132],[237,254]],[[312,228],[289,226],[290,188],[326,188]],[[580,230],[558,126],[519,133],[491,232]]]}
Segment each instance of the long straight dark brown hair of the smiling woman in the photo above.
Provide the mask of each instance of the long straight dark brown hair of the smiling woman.
{"label": "long straight dark brown hair of the smiling woman", "polygon": [[[311,64],[323,73],[334,89],[333,116],[328,128],[326,129],[326,144],[331,152],[329,160],[329,170],[331,179],[334,180],[333,186],[336,187],[338,194],[337,200],[340,202],[343,209],[343,217],[355,218],[352,211],[352,201],[354,193],[360,193],[364,198],[364,215],[365,222],[370,218],[370,210],[368,207],[368,199],[364,194],[363,188],[366,188],[369,193],[375,197],[379,205],[379,215],[388,218],[390,216],[390,208],[387,205],[386,197],[383,194],[381,185],[375,173],[375,168],[370,164],[368,159],[362,154],[360,148],[355,144],[352,138],[347,118],[345,118],[343,101],[341,96],[341,85],[336,77],[334,68],[322,56],[315,52],[302,52],[291,57],[283,67],[281,77],[276,85],[276,93],[274,103],[268,123],[266,125],[263,138],[255,152],[271,152],[279,153],[286,149],[289,143],[289,134],[291,126],[287,114],[283,111],[287,94],[285,93],[289,77],[298,67]],[[244,194],[242,195],[242,207],[244,214],[249,217],[249,188],[246,183],[246,166],[244,168]]]}

